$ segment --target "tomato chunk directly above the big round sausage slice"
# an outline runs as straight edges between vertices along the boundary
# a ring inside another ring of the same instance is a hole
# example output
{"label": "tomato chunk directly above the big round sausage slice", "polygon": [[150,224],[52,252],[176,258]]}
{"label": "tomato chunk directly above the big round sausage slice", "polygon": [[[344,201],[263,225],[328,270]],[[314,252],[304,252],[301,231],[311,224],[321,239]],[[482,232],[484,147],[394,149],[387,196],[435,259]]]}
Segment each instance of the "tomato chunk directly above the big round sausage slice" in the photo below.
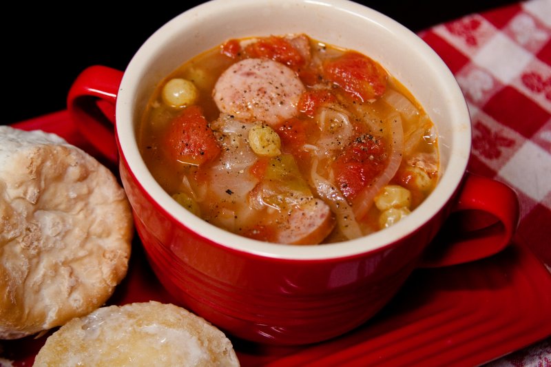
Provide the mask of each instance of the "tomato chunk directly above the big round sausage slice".
{"label": "tomato chunk directly above the big round sausage slice", "polygon": [[278,36],[268,36],[250,43],[245,47],[245,53],[249,57],[278,61],[295,70],[306,62],[291,42]]}

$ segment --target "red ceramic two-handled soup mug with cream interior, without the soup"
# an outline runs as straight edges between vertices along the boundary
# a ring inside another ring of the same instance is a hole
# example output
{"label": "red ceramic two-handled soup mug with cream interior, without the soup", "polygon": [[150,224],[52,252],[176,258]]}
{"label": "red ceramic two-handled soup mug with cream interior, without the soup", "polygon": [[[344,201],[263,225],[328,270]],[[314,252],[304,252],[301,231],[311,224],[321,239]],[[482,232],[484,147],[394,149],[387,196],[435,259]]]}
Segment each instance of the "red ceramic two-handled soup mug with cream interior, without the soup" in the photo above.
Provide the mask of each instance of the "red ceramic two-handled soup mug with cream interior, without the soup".
{"label": "red ceramic two-handled soup mug with cream interior, without the soup", "polygon": [[[305,33],[375,59],[435,123],[441,178],[422,205],[392,227],[336,244],[251,240],[191,214],[147,170],[136,144],[136,124],[162,78],[227,39],[289,33]],[[377,313],[414,269],[495,254],[517,226],[515,193],[466,172],[470,117],[453,74],[413,32],[358,3],[203,3],[155,32],[125,72],[103,66],[85,70],[70,90],[68,108],[82,133],[118,160],[138,234],[160,282],[183,306],[252,341],[307,344],[341,335]],[[109,120],[116,121],[115,129]],[[470,222],[469,235],[433,240],[455,224],[450,213],[462,213],[461,222]]]}

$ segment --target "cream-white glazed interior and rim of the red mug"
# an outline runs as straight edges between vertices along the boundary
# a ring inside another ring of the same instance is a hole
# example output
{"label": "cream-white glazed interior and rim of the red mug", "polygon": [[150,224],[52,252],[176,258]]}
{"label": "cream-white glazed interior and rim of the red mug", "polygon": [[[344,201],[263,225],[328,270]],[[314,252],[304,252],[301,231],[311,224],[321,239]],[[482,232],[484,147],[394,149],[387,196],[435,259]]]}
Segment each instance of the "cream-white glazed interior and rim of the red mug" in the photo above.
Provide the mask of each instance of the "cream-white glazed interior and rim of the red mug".
{"label": "cream-white glazed interior and rim of the red mug", "polygon": [[[197,218],[158,185],[136,143],[154,87],[192,56],[230,38],[305,33],[357,50],[383,65],[422,104],[437,126],[441,178],[413,214],[389,229],[336,244],[298,246],[243,238]],[[205,238],[233,249],[287,259],[324,259],[377,249],[423,226],[446,205],[459,185],[470,154],[470,118],[453,74],[413,32],[392,19],[347,0],[213,0],[172,19],[136,52],[123,76],[116,106],[122,154],[152,198],[171,216]]]}

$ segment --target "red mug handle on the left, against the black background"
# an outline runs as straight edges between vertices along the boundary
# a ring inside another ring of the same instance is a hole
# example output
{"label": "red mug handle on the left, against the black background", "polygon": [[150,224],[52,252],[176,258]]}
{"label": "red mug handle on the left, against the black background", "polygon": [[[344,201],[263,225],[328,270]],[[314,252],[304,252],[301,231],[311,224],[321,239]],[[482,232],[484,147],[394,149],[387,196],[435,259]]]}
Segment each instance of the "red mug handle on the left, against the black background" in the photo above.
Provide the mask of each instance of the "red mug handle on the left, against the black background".
{"label": "red mug handle on the left, against the black background", "polygon": [[118,159],[115,103],[122,79],[120,70],[93,65],[76,77],[67,95],[67,110],[79,132],[113,163]]}

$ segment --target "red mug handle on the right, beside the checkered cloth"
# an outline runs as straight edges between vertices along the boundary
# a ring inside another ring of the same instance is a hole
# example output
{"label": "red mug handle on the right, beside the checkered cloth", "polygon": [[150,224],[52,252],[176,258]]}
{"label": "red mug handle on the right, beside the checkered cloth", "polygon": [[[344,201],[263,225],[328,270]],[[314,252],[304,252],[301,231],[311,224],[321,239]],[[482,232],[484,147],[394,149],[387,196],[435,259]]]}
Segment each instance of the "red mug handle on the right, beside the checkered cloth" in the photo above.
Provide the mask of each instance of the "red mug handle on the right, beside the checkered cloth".
{"label": "red mug handle on the right, beside the checkered cloth", "polygon": [[449,266],[495,255],[510,243],[518,222],[519,200],[513,189],[467,172],[450,216],[419,267]]}

